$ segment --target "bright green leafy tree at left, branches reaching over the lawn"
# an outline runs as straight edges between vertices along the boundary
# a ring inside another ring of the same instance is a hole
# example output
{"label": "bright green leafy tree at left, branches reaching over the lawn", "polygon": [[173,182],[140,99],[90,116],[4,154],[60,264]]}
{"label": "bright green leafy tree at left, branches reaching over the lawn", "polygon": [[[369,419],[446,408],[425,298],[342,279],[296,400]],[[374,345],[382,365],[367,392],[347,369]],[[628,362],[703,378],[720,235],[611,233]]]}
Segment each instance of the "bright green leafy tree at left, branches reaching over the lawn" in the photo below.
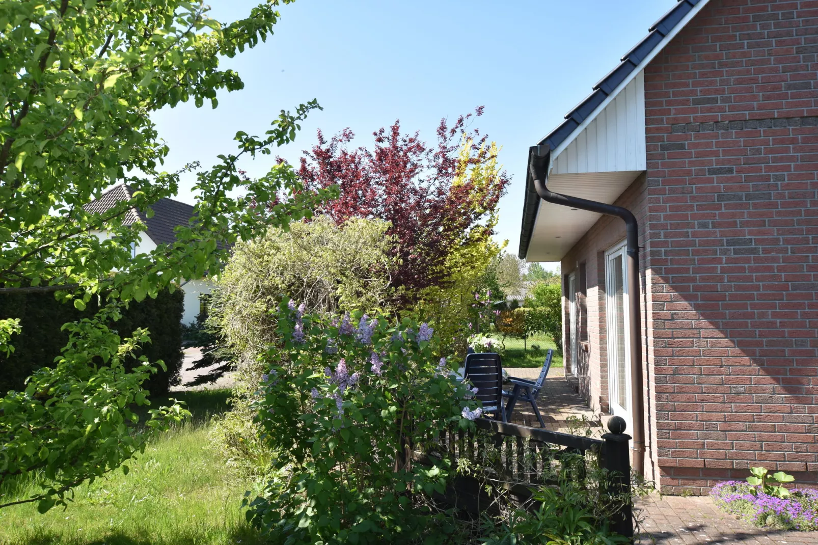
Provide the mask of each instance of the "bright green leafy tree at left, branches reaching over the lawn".
{"label": "bright green leafy tree at left, branches reaching over the lawn", "polygon": [[[76,485],[113,471],[145,448],[152,430],[185,414],[178,404],[152,409],[144,426],[129,426],[139,420],[131,405],[147,403],[142,381],[163,364],[125,370],[124,359],[149,337],[140,329],[121,339],[107,326],[120,307],[173,289],[175,279],[217,272],[230,245],[286,228],[334,194],[302,191],[287,164],[254,180],[236,166],[242,155],[290,142],[318,107],[311,101],[294,115],[282,110],[264,137],[237,133],[239,151],[197,174],[195,220],[177,229],[177,241],[132,254],[145,226],[125,224],[129,211],[150,215],[153,203],[176,194],[180,174],[197,167],[160,171],[169,150],[151,113],[190,100],[215,107],[219,89],[242,88],[218,59],[271,34],[277,4],[222,25],[201,2],[182,0],[0,2],[0,295],[54,292],[77,309],[92,297],[101,302],[96,316],[64,326],[70,340],[52,368],[0,399],[0,487],[16,475],[43,475],[42,492],[23,500],[39,511],[64,504]],[[86,209],[117,182],[132,186],[133,198],[104,213]],[[15,318],[0,321],[0,350],[14,349],[18,331]]]}

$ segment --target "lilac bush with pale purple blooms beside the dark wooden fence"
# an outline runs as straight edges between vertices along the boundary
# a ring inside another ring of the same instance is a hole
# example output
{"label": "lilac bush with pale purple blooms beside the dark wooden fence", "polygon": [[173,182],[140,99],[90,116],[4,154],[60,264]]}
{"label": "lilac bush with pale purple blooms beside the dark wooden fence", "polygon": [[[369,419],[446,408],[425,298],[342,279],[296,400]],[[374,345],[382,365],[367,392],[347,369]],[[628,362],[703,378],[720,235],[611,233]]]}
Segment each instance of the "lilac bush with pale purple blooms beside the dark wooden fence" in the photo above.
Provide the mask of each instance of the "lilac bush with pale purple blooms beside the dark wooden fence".
{"label": "lilac bush with pale purple blooms beside the dark wooden fence", "polygon": [[275,462],[248,519],[275,543],[445,543],[429,498],[454,470],[422,455],[480,410],[432,328],[288,300],[274,314],[255,408]]}

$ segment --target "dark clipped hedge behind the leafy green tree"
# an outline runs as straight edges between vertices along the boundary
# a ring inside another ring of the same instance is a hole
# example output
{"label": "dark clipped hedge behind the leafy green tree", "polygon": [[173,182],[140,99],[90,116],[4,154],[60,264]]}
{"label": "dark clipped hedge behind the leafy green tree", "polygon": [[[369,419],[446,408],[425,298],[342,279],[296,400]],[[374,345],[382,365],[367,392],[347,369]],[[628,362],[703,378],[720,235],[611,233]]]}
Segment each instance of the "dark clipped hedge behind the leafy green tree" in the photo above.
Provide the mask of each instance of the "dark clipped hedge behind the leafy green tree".
{"label": "dark clipped hedge behind the leafy green tree", "polygon": [[[143,383],[151,394],[165,394],[169,387],[179,384],[182,367],[182,309],[181,290],[161,292],[156,299],[146,298],[142,303],[131,301],[124,309],[123,317],[113,324],[122,338],[131,336],[137,327],[146,327],[151,333],[151,343],[142,347],[138,355],[146,355],[148,361],[163,360],[168,366]],[[54,294],[0,295],[0,318],[20,318],[23,331],[11,336],[15,351],[8,357],[0,354],[0,393],[21,390],[25,379],[40,367],[51,367],[54,358],[68,342],[68,334],[61,331],[65,322],[90,317],[97,310],[96,304],[88,304],[83,312],[73,304],[62,304]],[[134,359],[128,367],[136,364]]]}

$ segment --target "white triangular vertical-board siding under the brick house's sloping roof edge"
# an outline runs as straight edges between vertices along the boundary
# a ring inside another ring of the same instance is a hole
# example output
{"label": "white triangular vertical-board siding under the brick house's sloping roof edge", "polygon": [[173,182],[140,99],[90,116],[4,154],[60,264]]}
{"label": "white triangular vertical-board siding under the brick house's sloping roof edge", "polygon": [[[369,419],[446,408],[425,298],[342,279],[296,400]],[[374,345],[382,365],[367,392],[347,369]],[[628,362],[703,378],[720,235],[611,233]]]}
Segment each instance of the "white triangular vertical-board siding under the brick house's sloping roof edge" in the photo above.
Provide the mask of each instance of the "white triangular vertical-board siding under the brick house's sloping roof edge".
{"label": "white triangular vertical-board siding under the brick house's sloping roof edge", "polygon": [[645,169],[645,73],[640,71],[556,156],[551,174]]}

